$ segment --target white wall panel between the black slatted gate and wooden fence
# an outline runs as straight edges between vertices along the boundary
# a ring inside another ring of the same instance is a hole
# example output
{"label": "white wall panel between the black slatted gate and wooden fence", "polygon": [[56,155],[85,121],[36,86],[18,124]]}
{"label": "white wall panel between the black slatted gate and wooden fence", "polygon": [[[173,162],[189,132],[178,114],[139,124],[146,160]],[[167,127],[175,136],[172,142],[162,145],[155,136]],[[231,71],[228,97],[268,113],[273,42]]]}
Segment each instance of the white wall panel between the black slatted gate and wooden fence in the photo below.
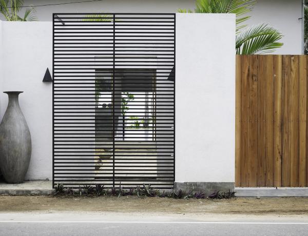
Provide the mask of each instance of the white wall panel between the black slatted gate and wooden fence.
{"label": "white wall panel between the black slatted gate and wooden fence", "polygon": [[176,182],[234,182],[235,15],[176,21]]}

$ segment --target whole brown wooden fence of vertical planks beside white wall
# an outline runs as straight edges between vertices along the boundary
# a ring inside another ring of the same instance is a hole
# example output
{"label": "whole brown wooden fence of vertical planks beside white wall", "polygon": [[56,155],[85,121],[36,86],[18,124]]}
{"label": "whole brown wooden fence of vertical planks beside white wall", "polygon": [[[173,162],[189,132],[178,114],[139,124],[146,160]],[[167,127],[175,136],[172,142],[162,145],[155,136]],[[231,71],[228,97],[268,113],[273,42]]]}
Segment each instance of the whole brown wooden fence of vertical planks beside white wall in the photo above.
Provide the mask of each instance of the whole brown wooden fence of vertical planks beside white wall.
{"label": "whole brown wooden fence of vertical planks beside white wall", "polygon": [[307,56],[237,55],[236,186],[307,186],[307,146]]}

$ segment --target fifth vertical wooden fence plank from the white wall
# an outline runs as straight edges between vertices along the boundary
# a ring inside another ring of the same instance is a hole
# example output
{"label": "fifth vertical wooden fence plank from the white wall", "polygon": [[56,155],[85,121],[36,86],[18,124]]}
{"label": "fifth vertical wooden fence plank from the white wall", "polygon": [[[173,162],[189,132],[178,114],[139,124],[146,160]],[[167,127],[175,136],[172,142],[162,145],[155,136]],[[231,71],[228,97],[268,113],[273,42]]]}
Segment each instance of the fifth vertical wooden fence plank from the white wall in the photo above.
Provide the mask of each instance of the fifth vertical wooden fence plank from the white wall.
{"label": "fifth vertical wooden fence plank from the white wall", "polygon": [[274,184],[274,55],[266,55],[266,179],[265,186]]}

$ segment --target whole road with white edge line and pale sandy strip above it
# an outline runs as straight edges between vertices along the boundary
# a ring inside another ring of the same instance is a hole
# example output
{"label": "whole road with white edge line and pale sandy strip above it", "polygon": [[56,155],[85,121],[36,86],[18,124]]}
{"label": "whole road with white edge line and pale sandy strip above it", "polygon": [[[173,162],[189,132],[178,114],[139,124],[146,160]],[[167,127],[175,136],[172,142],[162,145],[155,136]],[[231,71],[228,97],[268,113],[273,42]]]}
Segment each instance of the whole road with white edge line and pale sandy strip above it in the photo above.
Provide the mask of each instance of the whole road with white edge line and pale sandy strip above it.
{"label": "whole road with white edge line and pale sandy strip above it", "polygon": [[1,212],[0,235],[307,235],[307,214]]}

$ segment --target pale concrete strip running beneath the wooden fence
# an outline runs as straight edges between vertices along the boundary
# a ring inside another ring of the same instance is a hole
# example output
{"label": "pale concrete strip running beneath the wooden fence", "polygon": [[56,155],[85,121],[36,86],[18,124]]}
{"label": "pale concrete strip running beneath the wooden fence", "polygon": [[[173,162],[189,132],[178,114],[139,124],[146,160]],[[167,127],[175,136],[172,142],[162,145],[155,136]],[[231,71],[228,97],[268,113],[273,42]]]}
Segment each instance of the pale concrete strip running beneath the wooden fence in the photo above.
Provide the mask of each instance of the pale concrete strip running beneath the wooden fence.
{"label": "pale concrete strip running beneath the wooden fence", "polygon": [[260,188],[235,188],[236,196],[308,196],[306,187],[260,187]]}

